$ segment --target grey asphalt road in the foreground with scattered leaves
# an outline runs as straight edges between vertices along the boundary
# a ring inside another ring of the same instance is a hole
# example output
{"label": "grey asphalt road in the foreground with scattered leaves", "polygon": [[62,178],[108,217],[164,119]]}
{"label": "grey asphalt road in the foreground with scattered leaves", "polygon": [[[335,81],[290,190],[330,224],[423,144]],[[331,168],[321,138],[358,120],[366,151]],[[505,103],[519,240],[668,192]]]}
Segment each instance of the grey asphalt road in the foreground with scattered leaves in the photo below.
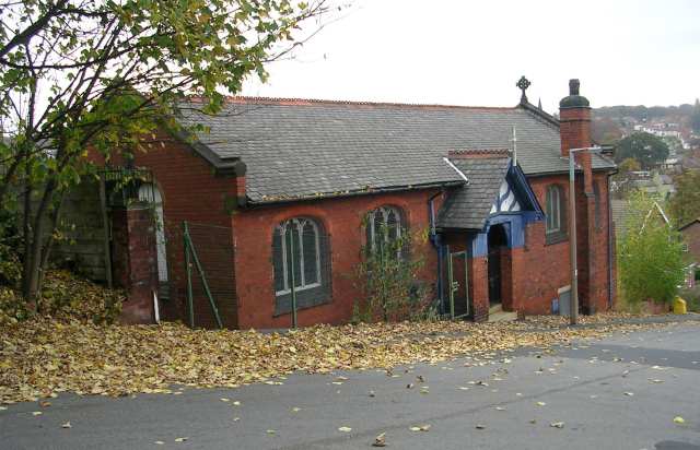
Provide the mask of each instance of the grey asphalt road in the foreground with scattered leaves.
{"label": "grey asphalt road in the foreground with scattered leaves", "polygon": [[700,450],[700,327],[690,324],[282,382],[12,405],[0,411],[0,449],[369,449],[385,433],[393,449]]}

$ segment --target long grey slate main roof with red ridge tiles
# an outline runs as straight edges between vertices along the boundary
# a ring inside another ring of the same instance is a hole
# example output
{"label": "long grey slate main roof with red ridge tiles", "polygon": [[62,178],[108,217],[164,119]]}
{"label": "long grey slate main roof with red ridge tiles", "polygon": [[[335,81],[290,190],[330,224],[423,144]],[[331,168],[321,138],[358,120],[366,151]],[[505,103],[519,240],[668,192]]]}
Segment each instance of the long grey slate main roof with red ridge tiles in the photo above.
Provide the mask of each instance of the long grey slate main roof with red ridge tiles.
{"label": "long grey slate main roof with red ridge tiles", "polygon": [[[448,151],[511,147],[526,175],[567,171],[556,119],[532,108],[481,108],[234,97],[221,114],[182,105],[185,126],[219,161],[241,158],[252,202],[460,183]],[[602,157],[594,169],[614,168]]]}

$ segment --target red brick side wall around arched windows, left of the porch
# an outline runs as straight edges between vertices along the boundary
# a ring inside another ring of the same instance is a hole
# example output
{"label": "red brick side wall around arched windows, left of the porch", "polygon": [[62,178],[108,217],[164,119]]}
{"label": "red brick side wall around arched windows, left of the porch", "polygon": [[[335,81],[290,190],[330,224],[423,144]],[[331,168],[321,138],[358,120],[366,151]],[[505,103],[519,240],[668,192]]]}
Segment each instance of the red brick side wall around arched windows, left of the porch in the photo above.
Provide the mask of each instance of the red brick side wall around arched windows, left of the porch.
{"label": "red brick side wall around arched windows, left of the porch", "polygon": [[[342,323],[352,315],[359,299],[355,269],[365,245],[364,215],[378,206],[393,205],[405,213],[412,234],[429,226],[428,199],[434,190],[396,194],[371,194],[314,202],[290,203],[244,211],[233,216],[235,236],[235,273],[241,328],[290,327],[291,315],[275,316],[275,283],[271,259],[273,227],[292,217],[318,221],[329,235],[331,301],[299,311],[300,325]],[[436,204],[439,208],[439,204]],[[421,279],[434,284],[436,251],[428,241],[415,239],[411,254],[425,261]]]}

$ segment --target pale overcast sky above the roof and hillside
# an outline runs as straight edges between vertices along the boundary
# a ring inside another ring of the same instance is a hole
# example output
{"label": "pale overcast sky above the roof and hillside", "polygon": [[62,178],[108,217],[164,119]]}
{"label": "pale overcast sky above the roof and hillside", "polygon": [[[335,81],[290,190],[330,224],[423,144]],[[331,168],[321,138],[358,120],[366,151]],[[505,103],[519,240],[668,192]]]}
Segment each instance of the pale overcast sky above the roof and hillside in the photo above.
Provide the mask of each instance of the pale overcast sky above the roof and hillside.
{"label": "pale overcast sky above the roof and hillside", "polygon": [[700,96],[700,1],[355,0],[243,94],[513,106],[549,112],[571,78],[592,106]]}

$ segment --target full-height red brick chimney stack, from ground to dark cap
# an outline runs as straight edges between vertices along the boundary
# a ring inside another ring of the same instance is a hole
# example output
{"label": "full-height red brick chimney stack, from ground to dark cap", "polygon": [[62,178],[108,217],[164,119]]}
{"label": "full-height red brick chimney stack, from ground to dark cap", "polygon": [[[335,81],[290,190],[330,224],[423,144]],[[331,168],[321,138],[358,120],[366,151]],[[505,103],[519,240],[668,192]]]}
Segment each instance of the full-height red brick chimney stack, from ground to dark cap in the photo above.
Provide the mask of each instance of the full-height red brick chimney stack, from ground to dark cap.
{"label": "full-height red brick chimney stack, from ground to dark cap", "polygon": [[[561,155],[569,157],[571,149],[587,149],[592,146],[591,140],[591,104],[588,99],[579,93],[579,80],[569,81],[569,96],[559,103],[559,130],[561,134]],[[597,292],[594,283],[595,276],[595,196],[593,193],[593,166],[592,155],[587,152],[578,152],[576,163],[583,169],[583,199],[576,201],[576,233],[579,244],[579,304],[585,312],[594,312],[595,300],[591,293]],[[581,194],[576,192],[578,196]],[[571,239],[576,238],[571,236]],[[585,257],[585,258],[584,258]]]}

